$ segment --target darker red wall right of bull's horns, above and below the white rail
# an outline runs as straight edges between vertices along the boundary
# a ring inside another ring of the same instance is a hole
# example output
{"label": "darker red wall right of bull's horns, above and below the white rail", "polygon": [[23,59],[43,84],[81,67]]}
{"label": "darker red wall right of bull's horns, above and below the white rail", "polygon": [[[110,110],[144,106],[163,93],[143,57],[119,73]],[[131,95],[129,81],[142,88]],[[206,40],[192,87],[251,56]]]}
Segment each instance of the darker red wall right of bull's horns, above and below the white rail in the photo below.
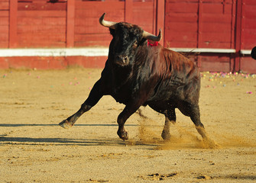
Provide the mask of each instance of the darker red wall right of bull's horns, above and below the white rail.
{"label": "darker red wall right of bull's horns, above and below the white rail", "polygon": [[167,47],[233,49],[235,53],[198,53],[201,70],[256,72],[256,62],[241,50],[256,46],[255,0],[166,0]]}

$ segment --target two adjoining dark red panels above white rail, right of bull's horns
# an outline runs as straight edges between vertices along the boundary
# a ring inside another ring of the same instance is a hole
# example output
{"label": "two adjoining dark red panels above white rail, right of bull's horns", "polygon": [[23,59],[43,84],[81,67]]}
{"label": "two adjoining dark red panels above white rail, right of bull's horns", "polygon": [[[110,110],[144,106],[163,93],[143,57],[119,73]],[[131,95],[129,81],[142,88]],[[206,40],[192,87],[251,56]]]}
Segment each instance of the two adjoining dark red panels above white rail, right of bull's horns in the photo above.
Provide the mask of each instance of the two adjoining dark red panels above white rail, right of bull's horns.
{"label": "two adjoining dark red panels above white rail, right of bull's horns", "polygon": [[165,43],[170,47],[232,48],[232,0],[167,0]]}

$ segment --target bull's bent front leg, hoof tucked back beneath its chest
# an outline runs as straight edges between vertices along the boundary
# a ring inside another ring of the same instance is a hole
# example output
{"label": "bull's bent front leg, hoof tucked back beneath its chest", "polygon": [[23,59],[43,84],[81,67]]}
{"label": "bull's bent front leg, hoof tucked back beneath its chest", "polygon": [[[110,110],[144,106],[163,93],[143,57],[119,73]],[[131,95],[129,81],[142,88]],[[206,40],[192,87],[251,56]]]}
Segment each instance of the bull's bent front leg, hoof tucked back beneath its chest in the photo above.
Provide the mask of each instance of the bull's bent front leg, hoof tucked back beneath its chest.
{"label": "bull's bent front leg, hoof tucked back beneath its chest", "polygon": [[128,132],[125,130],[125,122],[140,108],[141,104],[134,103],[125,106],[125,109],[118,115],[118,136],[122,140],[128,140]]}

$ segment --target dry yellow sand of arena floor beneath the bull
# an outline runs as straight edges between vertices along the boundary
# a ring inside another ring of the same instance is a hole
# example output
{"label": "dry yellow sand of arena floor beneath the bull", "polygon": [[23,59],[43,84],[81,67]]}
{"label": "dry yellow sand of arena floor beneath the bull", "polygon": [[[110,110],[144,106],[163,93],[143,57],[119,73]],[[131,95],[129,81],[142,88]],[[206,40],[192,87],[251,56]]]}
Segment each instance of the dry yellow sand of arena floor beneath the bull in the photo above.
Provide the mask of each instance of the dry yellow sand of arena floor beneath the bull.
{"label": "dry yellow sand of arena floor beneath the bull", "polygon": [[[204,72],[201,120],[219,148],[206,149],[177,110],[171,140],[164,116],[141,108],[116,133],[124,108],[105,96],[70,130],[101,69],[0,70],[0,182],[255,182],[256,77]],[[252,93],[251,93],[252,92]]]}

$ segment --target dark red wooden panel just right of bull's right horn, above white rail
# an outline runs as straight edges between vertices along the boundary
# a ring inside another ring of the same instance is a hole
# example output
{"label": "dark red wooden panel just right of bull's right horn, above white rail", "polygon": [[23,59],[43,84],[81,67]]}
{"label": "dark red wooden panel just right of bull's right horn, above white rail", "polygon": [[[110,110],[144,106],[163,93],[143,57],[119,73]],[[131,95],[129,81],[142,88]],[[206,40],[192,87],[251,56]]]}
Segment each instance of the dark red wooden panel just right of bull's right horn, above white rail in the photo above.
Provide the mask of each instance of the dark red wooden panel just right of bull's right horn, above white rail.
{"label": "dark red wooden panel just right of bull's right horn, above white rail", "polygon": [[167,47],[196,47],[198,4],[194,0],[167,0],[164,43]]}

